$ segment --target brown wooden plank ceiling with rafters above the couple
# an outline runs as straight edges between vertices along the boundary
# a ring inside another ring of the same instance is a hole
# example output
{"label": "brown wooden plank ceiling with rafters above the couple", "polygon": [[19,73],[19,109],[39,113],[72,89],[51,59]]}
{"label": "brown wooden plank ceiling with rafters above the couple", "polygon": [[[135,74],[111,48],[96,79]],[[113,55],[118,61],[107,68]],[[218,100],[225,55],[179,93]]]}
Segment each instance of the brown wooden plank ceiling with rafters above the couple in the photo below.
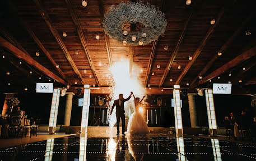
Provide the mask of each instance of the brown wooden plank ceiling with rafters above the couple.
{"label": "brown wooden plank ceiling with rafters above the couple", "polygon": [[[188,6],[180,0],[147,0],[165,13],[165,35],[149,45],[135,47],[124,46],[105,35],[101,23],[110,6],[128,1],[87,2],[83,7],[82,0],[3,0],[0,2],[0,36],[62,79],[60,82],[51,77],[57,86],[108,86],[111,74],[108,69],[122,61],[130,61],[131,71],[135,70],[132,65],[142,69],[140,79],[145,87],[148,84],[151,87],[174,84],[209,87],[213,82],[228,81],[237,85],[239,79],[243,80],[240,85],[256,83],[255,54],[250,53],[246,60],[234,60],[237,64],[233,66],[226,65],[256,46],[255,1],[192,0]],[[216,22],[211,25],[213,18]],[[246,35],[247,30],[252,34]],[[66,37],[62,36],[63,32],[67,33]],[[96,35],[100,36],[99,40]],[[168,46],[167,50],[165,46]],[[15,54],[4,46],[1,51],[12,57],[1,60],[2,75],[7,70],[16,71],[19,58],[13,57]],[[40,56],[35,55],[36,51]],[[221,56],[218,51],[222,52]],[[189,60],[189,56],[193,59]],[[14,60],[16,67],[10,64]],[[33,65],[29,67],[38,73],[30,75],[34,81],[27,81],[27,84],[34,84],[39,75],[50,77]],[[216,74],[220,67],[223,71]],[[229,76],[230,72],[232,76]],[[16,74],[19,76],[20,72]],[[211,82],[204,79],[209,75]],[[10,79],[4,76],[3,85]]]}

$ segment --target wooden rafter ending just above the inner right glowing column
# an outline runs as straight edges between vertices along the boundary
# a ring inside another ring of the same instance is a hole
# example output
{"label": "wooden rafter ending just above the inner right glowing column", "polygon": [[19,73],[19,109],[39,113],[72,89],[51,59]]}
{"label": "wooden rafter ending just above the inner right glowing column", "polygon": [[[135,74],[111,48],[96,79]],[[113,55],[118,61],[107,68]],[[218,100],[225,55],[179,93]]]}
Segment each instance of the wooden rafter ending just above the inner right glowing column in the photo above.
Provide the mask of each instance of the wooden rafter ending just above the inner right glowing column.
{"label": "wooden rafter ending just above the inner right glowing column", "polygon": [[193,54],[193,59],[190,60],[187,64],[187,66],[185,66],[184,70],[181,72],[180,76],[178,77],[178,80],[176,80],[175,84],[180,84],[181,80],[183,79],[183,77],[187,74],[187,72],[189,71],[190,67],[194,64],[194,62],[197,60],[197,57],[200,55],[200,53],[202,52],[204,46],[206,45],[206,42],[208,40],[208,38],[210,37],[211,33],[214,31],[214,28],[217,26],[218,22],[220,22],[220,18],[222,17],[222,15],[224,14],[224,8],[221,9],[220,13],[218,13],[218,16],[216,18],[216,22],[214,25],[212,25],[209,30],[206,33],[206,36],[204,36],[203,40],[201,41],[201,43],[199,44],[199,46],[197,47],[197,50],[194,52]]}

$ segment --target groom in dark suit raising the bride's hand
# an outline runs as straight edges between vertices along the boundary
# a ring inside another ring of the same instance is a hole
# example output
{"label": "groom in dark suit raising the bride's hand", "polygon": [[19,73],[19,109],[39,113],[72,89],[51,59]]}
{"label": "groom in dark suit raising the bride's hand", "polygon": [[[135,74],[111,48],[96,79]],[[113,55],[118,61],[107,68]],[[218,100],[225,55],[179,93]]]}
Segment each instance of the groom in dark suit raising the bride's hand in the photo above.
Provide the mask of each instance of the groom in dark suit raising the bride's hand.
{"label": "groom in dark suit raising the bride's hand", "polygon": [[122,119],[122,134],[124,134],[124,129],[125,129],[125,118],[124,118],[124,102],[128,101],[131,99],[133,92],[131,92],[131,95],[127,98],[124,99],[123,94],[119,94],[119,99],[114,101],[114,104],[112,106],[110,115],[112,115],[113,109],[116,106],[117,109],[115,111],[115,116],[117,116],[117,135],[119,135],[119,123],[120,123],[120,118]]}

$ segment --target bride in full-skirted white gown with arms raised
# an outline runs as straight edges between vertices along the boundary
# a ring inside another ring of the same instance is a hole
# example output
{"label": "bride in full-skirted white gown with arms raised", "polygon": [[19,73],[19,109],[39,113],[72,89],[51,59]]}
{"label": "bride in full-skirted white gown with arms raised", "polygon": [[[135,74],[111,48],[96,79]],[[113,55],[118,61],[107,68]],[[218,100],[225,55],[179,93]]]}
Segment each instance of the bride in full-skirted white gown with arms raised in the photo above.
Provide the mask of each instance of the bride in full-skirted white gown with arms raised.
{"label": "bride in full-skirted white gown with arms raised", "polygon": [[129,119],[127,131],[130,135],[146,135],[148,133],[147,122],[139,111],[139,106],[141,106],[141,102],[145,96],[141,99],[141,101],[139,101],[139,97],[135,97],[134,95],[133,97],[135,111]]}

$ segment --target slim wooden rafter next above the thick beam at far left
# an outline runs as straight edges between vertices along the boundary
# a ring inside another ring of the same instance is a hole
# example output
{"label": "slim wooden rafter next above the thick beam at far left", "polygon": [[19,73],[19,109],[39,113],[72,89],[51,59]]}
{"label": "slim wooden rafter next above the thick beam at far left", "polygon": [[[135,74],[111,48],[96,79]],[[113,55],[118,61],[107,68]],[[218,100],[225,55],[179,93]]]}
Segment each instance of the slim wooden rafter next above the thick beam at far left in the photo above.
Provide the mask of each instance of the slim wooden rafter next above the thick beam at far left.
{"label": "slim wooden rafter next above the thick beam at far left", "polygon": [[[36,42],[36,44],[41,48],[41,50],[45,53],[45,56],[48,57],[50,62],[52,62],[53,66],[57,66],[57,63],[53,60],[53,57],[50,56],[50,53],[45,49],[44,45],[41,43],[38,37],[36,37],[35,33],[31,30],[29,26],[26,25],[26,23],[20,19],[20,23],[23,28],[29,33],[29,35],[33,38],[33,40]],[[64,75],[62,70],[60,68],[56,68],[59,74],[62,76],[64,80],[67,80],[67,77]]]}

